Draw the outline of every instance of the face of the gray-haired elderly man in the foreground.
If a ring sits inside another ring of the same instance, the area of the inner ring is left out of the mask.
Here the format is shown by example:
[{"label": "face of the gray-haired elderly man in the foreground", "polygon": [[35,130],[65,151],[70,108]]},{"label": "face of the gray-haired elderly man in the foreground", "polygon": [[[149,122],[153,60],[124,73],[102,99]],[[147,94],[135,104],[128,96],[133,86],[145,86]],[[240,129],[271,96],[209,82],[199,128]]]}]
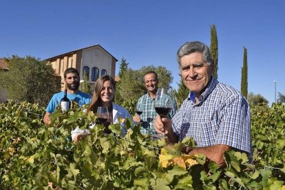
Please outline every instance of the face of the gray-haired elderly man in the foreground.
[{"label": "face of the gray-haired elderly man in the foreground", "polygon": [[212,68],[212,65],[207,65],[200,52],[182,56],[180,61],[182,81],[191,92],[196,94],[196,97],[200,96],[204,87],[209,83]]}]

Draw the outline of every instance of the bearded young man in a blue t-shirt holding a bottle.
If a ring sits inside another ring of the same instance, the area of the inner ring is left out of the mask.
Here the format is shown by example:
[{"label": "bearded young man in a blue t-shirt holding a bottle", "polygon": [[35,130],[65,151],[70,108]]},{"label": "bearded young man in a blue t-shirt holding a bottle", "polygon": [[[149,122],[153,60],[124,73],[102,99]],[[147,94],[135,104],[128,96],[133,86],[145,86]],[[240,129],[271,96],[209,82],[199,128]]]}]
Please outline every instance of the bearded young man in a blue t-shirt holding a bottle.
[{"label": "bearded young man in a blue t-shirt holding a bottle", "polygon": [[[78,90],[78,87],[80,85],[80,77],[78,70],[70,67],[65,70],[64,74],[64,82],[67,85],[67,98],[70,99],[70,101],[76,101],[79,106],[82,106],[84,104],[88,104],[91,101],[90,95],[86,94],[84,92],[80,92]],[[56,109],[56,106],[61,103],[61,98],[63,98],[64,92],[59,92],[54,94],[52,96],[52,99],[50,100],[50,103],[47,105],[47,108],[45,109],[45,116],[43,118],[43,122],[46,125],[50,125],[50,114],[54,112]]]}]

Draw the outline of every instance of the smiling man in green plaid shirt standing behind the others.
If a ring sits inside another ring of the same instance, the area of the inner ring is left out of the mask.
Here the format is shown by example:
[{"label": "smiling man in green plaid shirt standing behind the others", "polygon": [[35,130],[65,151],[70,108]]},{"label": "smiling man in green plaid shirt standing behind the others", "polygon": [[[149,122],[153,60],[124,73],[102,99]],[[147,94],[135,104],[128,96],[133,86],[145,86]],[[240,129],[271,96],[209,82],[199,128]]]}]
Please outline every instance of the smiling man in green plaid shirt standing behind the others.
[{"label": "smiling man in green plaid shirt standing behind the others", "polygon": [[[158,75],[154,71],[149,71],[145,73],[144,81],[147,94],[138,98],[137,103],[137,107],[140,107],[142,114],[136,114],[133,119],[142,126],[142,134],[157,134],[154,128],[154,118],[157,116],[156,110],[154,109],[154,98],[158,90]],[[173,104],[173,109],[168,114],[169,118],[172,118],[176,113],[176,101],[173,101]]]}]

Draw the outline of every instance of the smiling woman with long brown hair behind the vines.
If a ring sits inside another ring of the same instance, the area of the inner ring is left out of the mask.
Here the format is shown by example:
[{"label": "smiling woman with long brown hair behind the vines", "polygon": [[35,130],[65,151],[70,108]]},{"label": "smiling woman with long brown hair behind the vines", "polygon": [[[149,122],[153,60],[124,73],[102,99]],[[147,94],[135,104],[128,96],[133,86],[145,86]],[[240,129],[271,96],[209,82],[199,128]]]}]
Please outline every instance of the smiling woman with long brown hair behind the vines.
[{"label": "smiling woman with long brown hair behind the vines", "polygon": [[[95,83],[94,86],[94,93],[92,96],[92,101],[87,109],[87,113],[92,111],[94,113],[97,112],[98,107],[107,107],[110,113],[110,118],[113,118],[112,123],[118,123],[118,118],[131,118],[131,115],[124,107],[113,103],[114,101],[114,94],[115,94],[115,81],[112,76],[104,75]],[[110,123],[110,120],[106,123]],[[105,123],[105,124],[106,124]],[[94,125],[91,126],[92,128]],[[105,125],[105,127],[107,127]],[[105,132],[108,132],[108,129],[105,129]],[[122,126],[122,133],[126,134],[126,129]],[[77,142],[81,138],[84,138],[89,134],[87,129],[82,130],[79,127],[76,127],[72,132],[72,140]]]}]

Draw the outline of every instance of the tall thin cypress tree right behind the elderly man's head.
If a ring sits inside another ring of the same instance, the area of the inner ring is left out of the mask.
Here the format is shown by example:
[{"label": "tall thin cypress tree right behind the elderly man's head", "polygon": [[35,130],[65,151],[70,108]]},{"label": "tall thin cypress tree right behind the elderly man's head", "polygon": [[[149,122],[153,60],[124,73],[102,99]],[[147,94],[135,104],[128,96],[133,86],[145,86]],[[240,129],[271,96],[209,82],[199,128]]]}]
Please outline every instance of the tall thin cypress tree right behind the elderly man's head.
[{"label": "tall thin cypress tree right behind the elderly man's head", "polygon": [[215,65],[213,76],[215,78],[218,78],[218,36],[217,36],[217,30],[215,29],[215,25],[211,25],[210,52]]}]

